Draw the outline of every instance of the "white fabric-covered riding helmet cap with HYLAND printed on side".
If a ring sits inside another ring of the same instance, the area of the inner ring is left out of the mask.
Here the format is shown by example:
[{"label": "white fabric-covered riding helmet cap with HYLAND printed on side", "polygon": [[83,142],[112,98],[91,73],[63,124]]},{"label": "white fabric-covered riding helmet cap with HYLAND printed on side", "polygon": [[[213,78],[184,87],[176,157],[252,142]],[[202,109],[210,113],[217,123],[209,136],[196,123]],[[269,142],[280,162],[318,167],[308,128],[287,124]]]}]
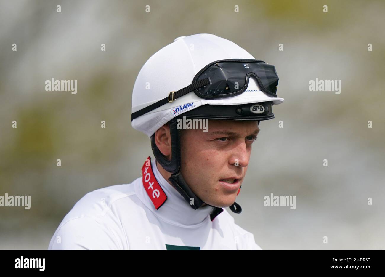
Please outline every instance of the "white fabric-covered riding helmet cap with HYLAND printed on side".
[{"label": "white fabric-covered riding helmet cap with HYLAND printed on side", "polygon": [[[139,111],[192,83],[194,76],[215,60],[254,59],[246,50],[230,40],[212,34],[177,37],[174,42],[152,55],[139,72],[132,92],[132,112]],[[256,78],[251,76],[245,92],[233,97],[203,99],[189,92],[173,102],[147,112],[132,120],[132,127],[151,136],[172,118],[206,104],[234,105],[272,101],[277,105],[285,99],[271,97],[261,91]],[[193,105],[174,112],[176,107]]]}]

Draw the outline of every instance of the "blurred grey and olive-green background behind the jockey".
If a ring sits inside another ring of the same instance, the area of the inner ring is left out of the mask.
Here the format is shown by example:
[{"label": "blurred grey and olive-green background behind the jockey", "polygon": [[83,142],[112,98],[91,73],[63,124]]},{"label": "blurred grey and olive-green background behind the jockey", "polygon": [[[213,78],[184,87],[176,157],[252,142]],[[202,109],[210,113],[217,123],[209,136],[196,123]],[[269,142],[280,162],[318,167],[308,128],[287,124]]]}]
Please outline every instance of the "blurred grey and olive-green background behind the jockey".
[{"label": "blurred grey and olive-green background behind the jockey", "polygon": [[[131,127],[136,76],[199,33],[275,65],[285,99],[259,125],[235,222],[264,250],[384,249],[384,14],[381,0],[0,1],[0,195],[31,196],[30,210],[0,207],[0,249],[47,249],[82,196],[140,176],[152,152]],[[77,94],[45,91],[51,78]],[[315,78],[341,93],[309,91]],[[265,207],[270,193],[296,209]]]}]

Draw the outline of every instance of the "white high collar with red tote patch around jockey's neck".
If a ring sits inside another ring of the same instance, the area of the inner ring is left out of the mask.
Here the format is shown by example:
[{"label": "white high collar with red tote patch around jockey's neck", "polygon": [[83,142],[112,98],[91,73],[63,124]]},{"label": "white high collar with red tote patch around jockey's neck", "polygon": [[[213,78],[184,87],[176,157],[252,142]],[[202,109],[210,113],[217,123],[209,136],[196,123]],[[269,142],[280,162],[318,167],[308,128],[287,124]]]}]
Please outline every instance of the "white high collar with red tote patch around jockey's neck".
[{"label": "white high collar with red tote patch around jockey's neck", "polygon": [[139,199],[157,217],[173,225],[196,227],[210,220],[213,206],[192,209],[182,195],[158,171],[148,157],[142,167],[142,181],[135,187]]}]

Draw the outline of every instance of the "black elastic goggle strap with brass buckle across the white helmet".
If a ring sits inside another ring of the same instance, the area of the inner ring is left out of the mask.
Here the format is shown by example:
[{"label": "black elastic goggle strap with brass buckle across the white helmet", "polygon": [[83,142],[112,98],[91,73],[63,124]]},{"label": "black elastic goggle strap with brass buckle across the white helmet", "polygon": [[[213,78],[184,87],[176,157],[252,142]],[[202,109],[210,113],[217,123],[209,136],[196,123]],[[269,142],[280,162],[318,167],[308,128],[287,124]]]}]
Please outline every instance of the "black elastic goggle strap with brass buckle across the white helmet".
[{"label": "black elastic goggle strap with brass buckle across the white helmet", "polygon": [[[205,78],[205,79],[202,79],[201,81],[198,81],[198,82],[191,84],[187,87],[179,89],[179,91],[170,92],[169,96],[167,96],[166,98],[163,98],[162,100],[159,100],[159,101],[151,104],[150,106],[144,107],[143,109],[140,109],[139,111],[133,112],[131,114],[131,121],[138,118],[139,116],[142,116],[143,114],[146,114],[147,112],[150,112],[156,108],[159,108],[160,106],[163,106],[164,104],[167,104],[168,102],[172,102],[172,101],[176,100],[177,98],[184,96],[185,94],[187,94],[191,91],[194,91],[194,89],[198,89],[199,87],[202,87],[202,86],[207,85],[209,83],[210,83],[209,78]],[[170,101],[170,96],[172,96],[171,101]]]}]

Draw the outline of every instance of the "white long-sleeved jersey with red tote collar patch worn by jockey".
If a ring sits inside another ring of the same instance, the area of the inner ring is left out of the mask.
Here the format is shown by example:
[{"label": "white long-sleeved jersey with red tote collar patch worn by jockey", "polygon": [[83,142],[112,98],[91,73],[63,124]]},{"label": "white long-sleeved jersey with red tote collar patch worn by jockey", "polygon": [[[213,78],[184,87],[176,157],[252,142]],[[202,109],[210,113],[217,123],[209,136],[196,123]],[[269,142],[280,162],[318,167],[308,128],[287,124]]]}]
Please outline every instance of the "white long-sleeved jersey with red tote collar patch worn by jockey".
[{"label": "white long-sleeved jersey with red tote collar patch worn by jockey", "polygon": [[[155,160],[148,165],[131,184],[101,188],[81,198],[60,223],[48,249],[262,250],[226,209],[211,220],[214,207],[194,210],[162,177]],[[155,186],[148,173],[154,175]],[[162,195],[164,200],[154,201]]]}]

